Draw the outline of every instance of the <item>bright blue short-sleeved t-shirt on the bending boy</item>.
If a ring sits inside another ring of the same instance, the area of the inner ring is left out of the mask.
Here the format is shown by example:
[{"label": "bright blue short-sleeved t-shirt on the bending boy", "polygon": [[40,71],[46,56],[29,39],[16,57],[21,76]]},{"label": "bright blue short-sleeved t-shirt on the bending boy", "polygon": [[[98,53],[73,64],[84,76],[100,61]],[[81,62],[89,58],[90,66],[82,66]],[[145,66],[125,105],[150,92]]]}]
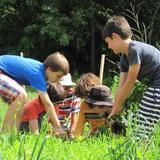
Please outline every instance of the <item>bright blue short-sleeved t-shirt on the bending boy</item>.
[{"label": "bright blue short-sleeved t-shirt on the bending boy", "polygon": [[43,63],[14,55],[0,56],[0,69],[19,84],[47,92]]}]

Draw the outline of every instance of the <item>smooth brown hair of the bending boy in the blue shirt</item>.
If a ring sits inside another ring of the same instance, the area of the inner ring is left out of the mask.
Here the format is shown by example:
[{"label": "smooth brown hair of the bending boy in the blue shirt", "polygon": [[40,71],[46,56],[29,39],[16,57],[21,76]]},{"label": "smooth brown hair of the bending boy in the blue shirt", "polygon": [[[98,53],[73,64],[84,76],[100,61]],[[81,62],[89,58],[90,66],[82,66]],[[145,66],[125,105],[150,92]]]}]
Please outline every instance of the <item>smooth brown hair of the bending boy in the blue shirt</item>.
[{"label": "smooth brown hair of the bending boy in the blue shirt", "polygon": [[66,75],[69,72],[69,63],[66,57],[60,52],[50,54],[44,61],[45,69],[50,67],[53,71],[61,71]]}]

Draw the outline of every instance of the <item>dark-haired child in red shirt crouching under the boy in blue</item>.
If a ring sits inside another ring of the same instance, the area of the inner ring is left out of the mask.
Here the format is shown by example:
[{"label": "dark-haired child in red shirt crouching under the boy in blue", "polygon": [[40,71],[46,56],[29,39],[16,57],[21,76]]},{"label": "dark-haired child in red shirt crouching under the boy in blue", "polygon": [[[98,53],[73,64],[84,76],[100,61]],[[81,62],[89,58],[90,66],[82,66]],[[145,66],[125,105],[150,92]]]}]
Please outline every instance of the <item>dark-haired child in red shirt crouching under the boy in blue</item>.
[{"label": "dark-haired child in red shirt crouching under the boy in blue", "polygon": [[[47,93],[51,102],[54,104],[55,111],[58,114],[57,102],[64,100],[66,93],[63,86],[60,83],[47,83]],[[46,114],[44,105],[38,96],[31,102],[24,106],[24,113],[22,116],[22,122],[20,131],[29,131],[38,134],[41,129],[41,121]],[[56,134],[56,133],[55,133]]]}]

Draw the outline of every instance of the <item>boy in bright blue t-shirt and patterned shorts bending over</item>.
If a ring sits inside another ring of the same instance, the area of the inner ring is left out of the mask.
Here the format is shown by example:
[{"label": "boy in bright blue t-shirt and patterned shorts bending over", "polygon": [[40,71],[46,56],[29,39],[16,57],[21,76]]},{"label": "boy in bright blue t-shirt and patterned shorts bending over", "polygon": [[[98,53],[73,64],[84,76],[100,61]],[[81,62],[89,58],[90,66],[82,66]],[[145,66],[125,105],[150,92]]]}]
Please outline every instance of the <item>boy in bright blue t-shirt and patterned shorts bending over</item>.
[{"label": "boy in bright blue t-shirt and patterned shorts bending over", "polygon": [[25,84],[38,90],[46,112],[52,117],[56,132],[60,135],[66,134],[46,90],[46,81],[56,82],[69,72],[68,61],[62,54],[51,54],[44,63],[30,58],[3,55],[0,56],[0,71],[0,95],[10,100],[2,132],[12,130],[15,122],[19,129],[23,106],[27,100],[27,93],[21,86]]}]

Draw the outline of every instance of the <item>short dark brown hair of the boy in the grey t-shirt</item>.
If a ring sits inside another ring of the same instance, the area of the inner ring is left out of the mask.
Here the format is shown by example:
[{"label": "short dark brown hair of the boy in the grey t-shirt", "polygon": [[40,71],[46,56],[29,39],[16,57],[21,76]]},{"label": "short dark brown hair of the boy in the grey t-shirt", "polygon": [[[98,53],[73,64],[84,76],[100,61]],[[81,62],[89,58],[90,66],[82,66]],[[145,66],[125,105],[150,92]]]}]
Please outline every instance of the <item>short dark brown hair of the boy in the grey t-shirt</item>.
[{"label": "short dark brown hair of the boy in the grey t-shirt", "polygon": [[122,39],[132,37],[131,27],[123,16],[113,16],[105,24],[102,30],[102,38],[112,38],[112,33],[117,33]]}]

